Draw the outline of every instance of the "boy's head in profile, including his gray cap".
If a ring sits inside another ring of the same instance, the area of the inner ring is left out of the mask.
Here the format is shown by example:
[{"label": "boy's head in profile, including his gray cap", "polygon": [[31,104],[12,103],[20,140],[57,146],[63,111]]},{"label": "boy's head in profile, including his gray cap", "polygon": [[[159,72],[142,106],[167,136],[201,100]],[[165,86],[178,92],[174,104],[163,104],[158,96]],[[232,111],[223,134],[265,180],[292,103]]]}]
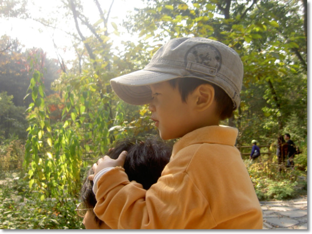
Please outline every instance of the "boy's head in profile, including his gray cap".
[{"label": "boy's head in profile, including his gray cap", "polygon": [[114,78],[111,85],[130,104],[150,103],[161,138],[171,139],[231,117],[240,103],[242,79],[243,64],[230,47],[211,39],[177,38],[163,45],[144,69]]}]

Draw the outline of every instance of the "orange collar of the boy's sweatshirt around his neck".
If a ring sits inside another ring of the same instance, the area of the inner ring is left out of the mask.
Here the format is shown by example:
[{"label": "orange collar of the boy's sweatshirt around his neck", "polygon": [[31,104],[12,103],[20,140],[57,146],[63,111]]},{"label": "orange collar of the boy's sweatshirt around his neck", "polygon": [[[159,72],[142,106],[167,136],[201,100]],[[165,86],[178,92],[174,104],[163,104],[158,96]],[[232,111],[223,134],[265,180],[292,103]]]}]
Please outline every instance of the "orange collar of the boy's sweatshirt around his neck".
[{"label": "orange collar of the boy's sweatshirt around his neck", "polygon": [[238,129],[229,126],[207,126],[196,129],[181,137],[173,147],[173,155],[194,144],[213,143],[234,146]]}]

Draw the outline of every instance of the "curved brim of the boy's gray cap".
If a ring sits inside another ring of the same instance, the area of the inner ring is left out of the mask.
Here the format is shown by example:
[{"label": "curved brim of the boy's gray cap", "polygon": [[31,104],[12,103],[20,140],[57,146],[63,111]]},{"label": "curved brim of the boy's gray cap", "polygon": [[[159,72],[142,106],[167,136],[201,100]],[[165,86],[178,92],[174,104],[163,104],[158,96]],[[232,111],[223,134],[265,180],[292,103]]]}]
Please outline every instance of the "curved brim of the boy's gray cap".
[{"label": "curved brim of the boy's gray cap", "polygon": [[144,105],[152,100],[150,84],[178,78],[174,74],[139,70],[110,80],[117,96],[133,105]]}]

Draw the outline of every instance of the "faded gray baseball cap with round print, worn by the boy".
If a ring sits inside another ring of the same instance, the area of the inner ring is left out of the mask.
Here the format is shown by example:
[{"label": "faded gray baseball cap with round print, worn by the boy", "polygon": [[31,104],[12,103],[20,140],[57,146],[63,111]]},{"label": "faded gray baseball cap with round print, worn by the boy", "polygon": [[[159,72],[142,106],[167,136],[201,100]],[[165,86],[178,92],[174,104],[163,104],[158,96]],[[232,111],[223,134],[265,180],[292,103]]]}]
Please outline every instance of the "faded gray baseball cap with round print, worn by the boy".
[{"label": "faded gray baseball cap with round print, worn by the boy", "polygon": [[234,107],[239,106],[243,81],[243,63],[225,44],[206,38],[176,38],[160,47],[142,70],[110,80],[117,96],[134,105],[152,100],[150,84],[191,77],[221,87]]}]

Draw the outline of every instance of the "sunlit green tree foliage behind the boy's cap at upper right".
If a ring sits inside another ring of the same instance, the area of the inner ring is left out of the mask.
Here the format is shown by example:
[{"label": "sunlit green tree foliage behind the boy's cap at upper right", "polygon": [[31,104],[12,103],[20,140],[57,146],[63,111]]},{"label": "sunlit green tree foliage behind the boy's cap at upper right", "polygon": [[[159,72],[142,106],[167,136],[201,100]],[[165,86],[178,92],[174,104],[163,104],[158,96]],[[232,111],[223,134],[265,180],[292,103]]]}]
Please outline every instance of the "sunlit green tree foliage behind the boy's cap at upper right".
[{"label": "sunlit green tree foliage behind the boy's cap at upper right", "polygon": [[294,0],[144,2],[146,7],[136,9],[124,26],[129,31],[140,32],[145,43],[157,43],[155,49],[169,38],[195,36],[219,40],[241,56],[242,102],[234,118],[224,123],[239,129],[238,145],[246,144],[254,136],[267,144],[288,129],[295,129],[296,141],[305,139],[307,9],[304,4]]}]

